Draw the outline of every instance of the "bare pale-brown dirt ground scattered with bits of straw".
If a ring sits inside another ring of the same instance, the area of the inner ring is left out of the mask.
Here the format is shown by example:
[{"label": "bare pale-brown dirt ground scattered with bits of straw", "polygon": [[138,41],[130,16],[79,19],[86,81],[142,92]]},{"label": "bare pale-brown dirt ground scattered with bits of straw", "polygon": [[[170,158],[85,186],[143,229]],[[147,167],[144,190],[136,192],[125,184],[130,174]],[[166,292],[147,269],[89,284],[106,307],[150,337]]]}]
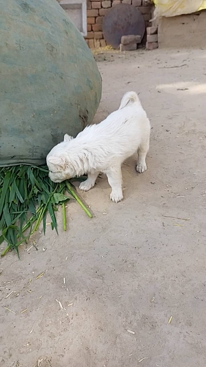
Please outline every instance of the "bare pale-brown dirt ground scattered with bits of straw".
[{"label": "bare pale-brown dirt ground scattered with bits of straw", "polygon": [[21,261],[0,259],[0,366],[203,367],[205,51],[96,59],[103,94],[95,121],[124,92],[139,92],[152,126],[148,170],[137,174],[130,158],[121,203],[99,178],[81,193],[93,219],[70,201],[67,232],[60,212],[59,236],[48,226],[34,236],[37,250],[31,241]]}]

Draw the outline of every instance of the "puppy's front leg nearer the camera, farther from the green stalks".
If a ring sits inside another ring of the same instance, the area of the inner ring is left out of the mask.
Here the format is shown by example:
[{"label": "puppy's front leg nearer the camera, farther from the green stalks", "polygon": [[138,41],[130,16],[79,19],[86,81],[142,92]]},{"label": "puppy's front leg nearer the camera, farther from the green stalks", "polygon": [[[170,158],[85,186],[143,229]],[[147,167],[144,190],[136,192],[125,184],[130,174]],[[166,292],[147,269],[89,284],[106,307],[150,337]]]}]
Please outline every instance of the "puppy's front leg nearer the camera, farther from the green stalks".
[{"label": "puppy's front leg nearer the camera, farther from the green stalks", "polygon": [[118,201],[123,199],[121,166],[119,165],[108,168],[106,175],[108,183],[111,186],[110,199],[114,201],[114,203],[118,203]]}]

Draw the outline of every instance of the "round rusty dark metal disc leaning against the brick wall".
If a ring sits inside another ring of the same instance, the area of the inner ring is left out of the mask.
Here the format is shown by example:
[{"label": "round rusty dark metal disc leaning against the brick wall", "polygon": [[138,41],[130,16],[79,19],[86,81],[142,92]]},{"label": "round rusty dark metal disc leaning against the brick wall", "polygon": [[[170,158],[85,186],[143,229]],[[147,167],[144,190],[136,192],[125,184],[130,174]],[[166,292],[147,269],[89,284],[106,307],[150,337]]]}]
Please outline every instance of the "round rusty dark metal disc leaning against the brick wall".
[{"label": "round rusty dark metal disc leaning against the brick wall", "polygon": [[122,36],[129,34],[144,36],[145,22],[141,12],[132,5],[119,4],[105,15],[102,24],[104,39],[118,48]]}]

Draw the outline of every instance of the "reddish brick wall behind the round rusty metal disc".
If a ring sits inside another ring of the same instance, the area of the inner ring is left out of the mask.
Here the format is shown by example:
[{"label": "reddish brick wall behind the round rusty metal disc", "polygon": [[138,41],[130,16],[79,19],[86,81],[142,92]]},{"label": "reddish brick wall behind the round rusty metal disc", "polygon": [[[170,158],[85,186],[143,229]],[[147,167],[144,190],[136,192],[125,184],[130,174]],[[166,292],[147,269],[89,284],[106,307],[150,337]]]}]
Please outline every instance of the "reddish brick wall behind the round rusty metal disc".
[{"label": "reddish brick wall behind the round rusty metal disc", "polygon": [[87,1],[87,37],[86,42],[90,48],[104,47],[106,41],[102,33],[102,21],[104,15],[111,7],[126,3],[137,7],[145,20],[146,27],[150,25],[151,1],[147,0],[88,0]]}]

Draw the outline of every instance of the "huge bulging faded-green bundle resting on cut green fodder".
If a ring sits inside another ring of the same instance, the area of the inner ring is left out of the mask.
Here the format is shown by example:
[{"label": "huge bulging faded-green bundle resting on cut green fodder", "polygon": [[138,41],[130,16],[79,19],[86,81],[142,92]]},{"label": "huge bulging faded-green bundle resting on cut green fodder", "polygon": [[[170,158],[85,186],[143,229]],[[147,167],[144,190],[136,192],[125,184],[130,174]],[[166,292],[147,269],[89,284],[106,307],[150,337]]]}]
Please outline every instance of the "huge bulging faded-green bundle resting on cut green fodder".
[{"label": "huge bulging faded-green bundle resting on cut green fodder", "polygon": [[102,80],[55,0],[0,0],[0,166],[44,164],[99,106]]}]

